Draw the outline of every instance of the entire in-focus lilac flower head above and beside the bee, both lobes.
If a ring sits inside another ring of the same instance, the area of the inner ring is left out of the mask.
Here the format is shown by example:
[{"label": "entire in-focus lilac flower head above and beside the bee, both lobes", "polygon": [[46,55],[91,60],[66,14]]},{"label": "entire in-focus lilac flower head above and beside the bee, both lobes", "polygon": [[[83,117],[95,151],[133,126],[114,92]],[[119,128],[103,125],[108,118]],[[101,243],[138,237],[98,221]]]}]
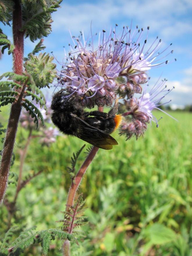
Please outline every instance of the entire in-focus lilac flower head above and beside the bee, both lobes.
[{"label": "entire in-focus lilac flower head above and beside the bee, both lobes", "polygon": [[123,104],[126,114],[123,114],[125,119],[120,133],[125,133],[128,138],[133,134],[136,137],[143,134],[147,128],[146,123],[154,119],[152,108],[157,107],[161,100],[153,101],[153,97],[151,98],[160,85],[155,86],[149,94],[144,93],[139,99],[134,97],[135,94],[142,93],[142,86],[148,81],[146,72],[154,66],[166,65],[168,60],[162,59],[173,53],[166,53],[169,46],[160,50],[161,39],[158,37],[145,49],[148,31],[149,27],[141,43],[144,31],[138,27],[133,32],[129,27],[123,27],[120,36],[116,33],[116,27],[108,35],[103,30],[98,34],[96,49],[94,37],[97,34],[93,36],[91,32],[90,42],[85,40],[83,33],[79,37],[72,36],[74,46],[70,45],[71,52],[69,56],[65,54],[66,63],[58,72],[58,85],[66,88],[67,95],[80,96],[77,100],[85,107],[93,108],[95,104],[111,106],[117,96],[126,97]]}]

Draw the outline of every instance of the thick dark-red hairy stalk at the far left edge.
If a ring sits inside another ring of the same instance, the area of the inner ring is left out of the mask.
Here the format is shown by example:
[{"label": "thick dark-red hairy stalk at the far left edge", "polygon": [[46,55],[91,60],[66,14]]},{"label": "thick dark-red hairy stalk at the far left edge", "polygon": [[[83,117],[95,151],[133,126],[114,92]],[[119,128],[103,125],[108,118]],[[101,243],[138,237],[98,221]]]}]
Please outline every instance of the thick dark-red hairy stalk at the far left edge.
[{"label": "thick dark-red hairy stalk at the far left edge", "polygon": [[[20,32],[22,26],[22,13],[20,1],[15,0],[13,10],[13,70],[16,74],[23,73],[23,55],[24,55],[24,32]],[[11,106],[10,117],[7,126],[7,133],[3,147],[0,167],[0,203],[3,200],[8,183],[11,157],[21,114],[21,101],[24,95],[25,85],[18,89],[19,97]]]}]

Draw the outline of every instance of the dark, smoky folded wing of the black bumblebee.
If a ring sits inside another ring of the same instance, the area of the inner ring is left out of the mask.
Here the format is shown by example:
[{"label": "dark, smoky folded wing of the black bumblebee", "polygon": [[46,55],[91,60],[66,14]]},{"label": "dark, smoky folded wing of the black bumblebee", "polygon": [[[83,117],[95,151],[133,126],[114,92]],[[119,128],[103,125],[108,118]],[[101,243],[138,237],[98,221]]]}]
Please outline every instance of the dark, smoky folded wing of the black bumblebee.
[{"label": "dark, smoky folded wing of the black bumblebee", "polygon": [[77,115],[72,115],[74,118],[78,119],[78,123],[81,122],[82,125],[82,129],[78,131],[78,138],[103,149],[112,149],[112,145],[118,145],[117,141],[108,133],[89,125]]}]

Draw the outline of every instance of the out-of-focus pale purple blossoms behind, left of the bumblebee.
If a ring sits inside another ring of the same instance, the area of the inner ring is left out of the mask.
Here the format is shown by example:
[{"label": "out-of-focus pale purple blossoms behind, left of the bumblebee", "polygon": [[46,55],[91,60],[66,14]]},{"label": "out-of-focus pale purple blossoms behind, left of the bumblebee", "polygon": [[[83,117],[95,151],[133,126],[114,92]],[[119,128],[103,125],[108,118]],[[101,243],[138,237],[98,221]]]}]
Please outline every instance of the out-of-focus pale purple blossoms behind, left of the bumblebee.
[{"label": "out-of-focus pale purple blossoms behind, left of the bumblebee", "polygon": [[[55,142],[55,137],[59,135],[59,131],[56,128],[46,126],[46,123],[51,123],[50,108],[48,108],[48,114],[46,114],[46,111],[44,109],[41,109],[39,104],[36,104],[35,102],[33,104],[39,108],[45,121],[45,126],[41,127],[38,130],[38,134],[33,135],[33,137],[39,137],[39,142],[42,146],[49,146],[51,143]],[[48,102],[46,105],[51,105],[51,103]],[[34,119],[25,109],[22,109],[21,111],[20,123],[21,127],[25,129],[28,129],[30,131],[36,130],[36,124],[34,123]]]}]

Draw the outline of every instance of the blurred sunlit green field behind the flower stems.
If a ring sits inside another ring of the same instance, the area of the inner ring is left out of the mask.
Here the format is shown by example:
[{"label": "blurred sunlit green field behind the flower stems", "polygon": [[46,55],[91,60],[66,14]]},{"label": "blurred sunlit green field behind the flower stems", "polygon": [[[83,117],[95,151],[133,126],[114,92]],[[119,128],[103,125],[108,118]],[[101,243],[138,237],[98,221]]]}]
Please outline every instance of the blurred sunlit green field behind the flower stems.
[{"label": "blurred sunlit green field behind the flower stems", "polygon": [[[128,141],[116,132],[113,136],[119,145],[98,151],[78,190],[86,199],[89,222],[78,229],[80,245],[72,245],[72,256],[192,255],[192,114],[170,114],[178,122],[155,112],[157,118],[163,116],[159,128],[152,123],[143,138]],[[26,137],[27,131],[19,128],[12,172],[18,173],[19,149]],[[24,176],[43,172],[20,191],[12,226],[60,227],[55,221],[63,218],[71,184],[66,170],[72,153],[83,144],[60,136],[50,147],[42,147],[38,138],[33,139]],[[85,156],[81,153],[77,169]],[[11,200],[14,194],[15,185],[10,184],[6,197]],[[8,218],[2,206],[0,234],[6,231]],[[55,240],[49,255],[62,255],[61,245]],[[41,255],[41,247],[31,246],[24,255]]]}]

